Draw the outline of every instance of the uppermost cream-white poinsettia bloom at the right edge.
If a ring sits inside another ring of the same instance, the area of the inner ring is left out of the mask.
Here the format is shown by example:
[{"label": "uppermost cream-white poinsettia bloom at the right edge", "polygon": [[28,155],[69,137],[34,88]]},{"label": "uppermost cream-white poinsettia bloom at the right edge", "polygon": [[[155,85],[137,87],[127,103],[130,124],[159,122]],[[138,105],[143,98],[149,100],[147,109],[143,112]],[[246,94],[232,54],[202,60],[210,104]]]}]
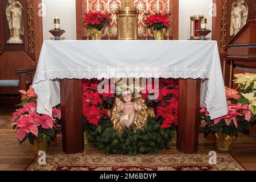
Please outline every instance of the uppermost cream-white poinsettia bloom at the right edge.
[{"label": "uppermost cream-white poinsettia bloom at the right edge", "polygon": [[256,74],[253,73],[245,73],[245,74],[236,74],[234,75],[237,79],[235,80],[236,84],[245,85],[245,89],[247,89],[250,84],[253,82],[253,89],[256,89]]}]

